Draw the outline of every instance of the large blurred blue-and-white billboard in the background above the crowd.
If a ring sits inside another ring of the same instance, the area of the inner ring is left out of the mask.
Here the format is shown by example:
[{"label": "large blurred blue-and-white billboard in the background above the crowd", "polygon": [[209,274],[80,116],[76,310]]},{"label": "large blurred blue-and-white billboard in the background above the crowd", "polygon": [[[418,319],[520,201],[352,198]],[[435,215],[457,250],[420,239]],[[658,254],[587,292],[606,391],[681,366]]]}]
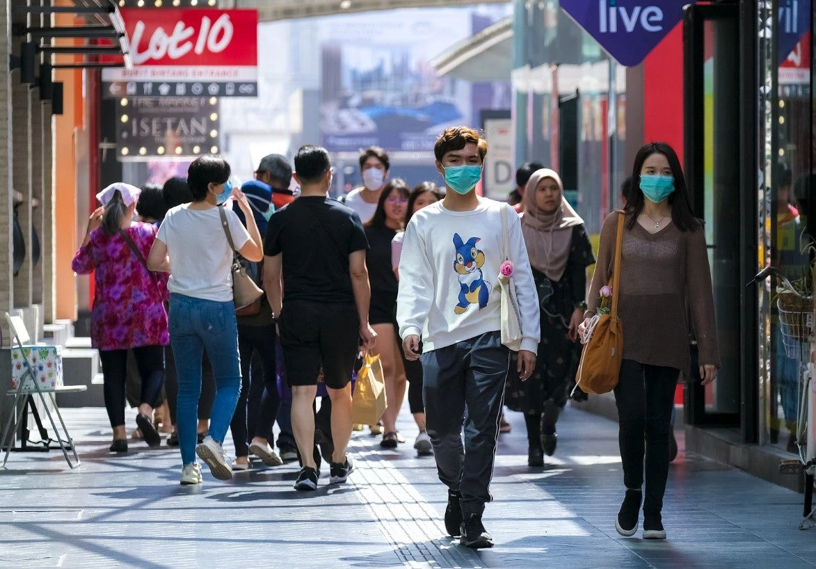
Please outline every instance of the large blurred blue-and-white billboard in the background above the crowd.
[{"label": "large blurred blue-and-white billboard in the background above the crowd", "polygon": [[478,24],[463,8],[322,19],[322,144],[330,152],[428,152],[445,127],[476,125],[471,84],[437,77],[430,61]]}]

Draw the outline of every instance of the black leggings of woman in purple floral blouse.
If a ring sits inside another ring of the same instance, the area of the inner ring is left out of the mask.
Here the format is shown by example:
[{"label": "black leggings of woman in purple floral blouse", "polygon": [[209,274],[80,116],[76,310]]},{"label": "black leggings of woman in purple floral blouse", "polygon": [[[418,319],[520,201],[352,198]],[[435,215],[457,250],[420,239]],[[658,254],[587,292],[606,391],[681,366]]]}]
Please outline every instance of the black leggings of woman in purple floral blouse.
[{"label": "black leggings of woman in purple floral blouse", "polygon": [[[141,403],[156,405],[164,381],[164,346],[151,345],[133,349],[136,366],[142,378]],[[127,350],[100,350],[104,376],[104,406],[112,427],[125,425],[125,381]]]}]

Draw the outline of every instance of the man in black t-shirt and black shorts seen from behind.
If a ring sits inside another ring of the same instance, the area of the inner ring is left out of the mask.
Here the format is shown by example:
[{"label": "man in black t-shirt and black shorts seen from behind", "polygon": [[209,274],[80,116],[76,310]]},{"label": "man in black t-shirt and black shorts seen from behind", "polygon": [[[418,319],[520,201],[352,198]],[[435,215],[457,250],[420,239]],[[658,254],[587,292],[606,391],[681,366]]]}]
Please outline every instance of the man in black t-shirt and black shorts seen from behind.
[{"label": "man in black t-shirt and black shorts seen from behind", "polygon": [[[326,198],[332,168],[326,149],[306,145],[295,155],[300,197],[269,220],[264,242],[264,288],[277,317],[286,376],[292,388],[292,429],[303,468],[295,489],[315,490],[313,457],[317,376],[331,400],[330,482],[345,482],[352,433],[351,380],[360,345],[375,345],[368,323],[368,242],[360,216]],[[282,298],[286,291],[286,298]]]}]

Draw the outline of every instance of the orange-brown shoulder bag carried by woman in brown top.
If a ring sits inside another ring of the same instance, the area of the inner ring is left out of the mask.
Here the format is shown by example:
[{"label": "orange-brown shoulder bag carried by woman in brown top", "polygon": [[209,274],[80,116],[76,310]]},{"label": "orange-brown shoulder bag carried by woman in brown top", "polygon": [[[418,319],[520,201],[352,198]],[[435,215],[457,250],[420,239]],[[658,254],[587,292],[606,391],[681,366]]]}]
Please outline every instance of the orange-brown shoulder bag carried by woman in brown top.
[{"label": "orange-brown shoulder bag carried by woman in brown top", "polygon": [[626,215],[620,211],[614,270],[609,282],[609,287],[612,288],[612,308],[609,314],[596,314],[590,318],[589,326],[583,333],[583,350],[575,389],[580,388],[584,393],[608,393],[618,385],[623,358],[623,326],[618,318],[618,283],[625,222]]}]

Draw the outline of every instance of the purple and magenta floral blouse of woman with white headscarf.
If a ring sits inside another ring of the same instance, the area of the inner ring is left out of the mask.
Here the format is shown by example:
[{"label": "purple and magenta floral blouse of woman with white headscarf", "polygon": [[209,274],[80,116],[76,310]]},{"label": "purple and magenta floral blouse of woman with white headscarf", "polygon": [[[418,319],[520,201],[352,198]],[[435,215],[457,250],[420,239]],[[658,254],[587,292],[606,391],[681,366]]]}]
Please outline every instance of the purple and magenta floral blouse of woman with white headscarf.
[{"label": "purple and magenta floral blouse of woman with white headscarf", "polygon": [[[137,223],[126,229],[147,259],[156,239],[152,224]],[[73,257],[75,273],[95,271],[94,306],[91,310],[91,345],[100,350],[167,345],[166,273],[149,273],[121,235],[99,228]]]}]

